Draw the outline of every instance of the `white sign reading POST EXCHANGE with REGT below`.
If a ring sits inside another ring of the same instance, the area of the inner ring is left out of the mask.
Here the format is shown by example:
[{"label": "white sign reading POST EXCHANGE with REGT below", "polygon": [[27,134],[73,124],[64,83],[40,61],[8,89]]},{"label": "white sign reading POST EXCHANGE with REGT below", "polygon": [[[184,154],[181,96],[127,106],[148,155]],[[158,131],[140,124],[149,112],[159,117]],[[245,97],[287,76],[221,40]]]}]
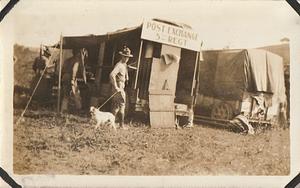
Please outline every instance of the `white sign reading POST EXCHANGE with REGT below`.
[{"label": "white sign reading POST EXCHANGE with REGT below", "polygon": [[144,21],[141,38],[200,51],[201,42],[197,32],[153,20]]}]

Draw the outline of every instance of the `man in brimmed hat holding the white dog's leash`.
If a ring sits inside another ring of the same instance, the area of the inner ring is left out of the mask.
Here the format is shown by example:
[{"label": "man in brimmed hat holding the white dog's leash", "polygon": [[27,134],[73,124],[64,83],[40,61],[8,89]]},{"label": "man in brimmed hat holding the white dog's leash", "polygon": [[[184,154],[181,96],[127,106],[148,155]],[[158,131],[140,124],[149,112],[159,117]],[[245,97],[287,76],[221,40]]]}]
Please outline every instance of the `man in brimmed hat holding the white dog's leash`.
[{"label": "man in brimmed hat holding the white dog's leash", "polygon": [[126,103],[126,93],[124,88],[126,81],[129,80],[127,62],[130,57],[133,57],[133,55],[127,46],[124,46],[123,50],[120,51],[119,54],[122,58],[110,73],[112,93],[118,92],[112,99],[112,112],[116,117],[119,115],[120,128],[127,129],[124,125]]}]

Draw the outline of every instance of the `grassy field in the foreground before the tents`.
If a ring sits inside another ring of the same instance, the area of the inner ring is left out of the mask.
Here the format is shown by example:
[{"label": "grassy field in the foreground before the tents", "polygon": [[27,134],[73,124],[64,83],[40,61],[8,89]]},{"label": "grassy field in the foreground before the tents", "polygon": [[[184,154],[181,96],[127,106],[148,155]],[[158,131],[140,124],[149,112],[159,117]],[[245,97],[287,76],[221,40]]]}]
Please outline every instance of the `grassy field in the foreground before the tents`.
[{"label": "grassy field in the foreground before the tents", "polygon": [[[15,121],[20,111],[15,110]],[[97,132],[87,117],[28,112],[14,125],[17,174],[288,175],[289,129],[241,135],[197,125],[190,129]],[[44,114],[44,115],[43,115]]]}]

